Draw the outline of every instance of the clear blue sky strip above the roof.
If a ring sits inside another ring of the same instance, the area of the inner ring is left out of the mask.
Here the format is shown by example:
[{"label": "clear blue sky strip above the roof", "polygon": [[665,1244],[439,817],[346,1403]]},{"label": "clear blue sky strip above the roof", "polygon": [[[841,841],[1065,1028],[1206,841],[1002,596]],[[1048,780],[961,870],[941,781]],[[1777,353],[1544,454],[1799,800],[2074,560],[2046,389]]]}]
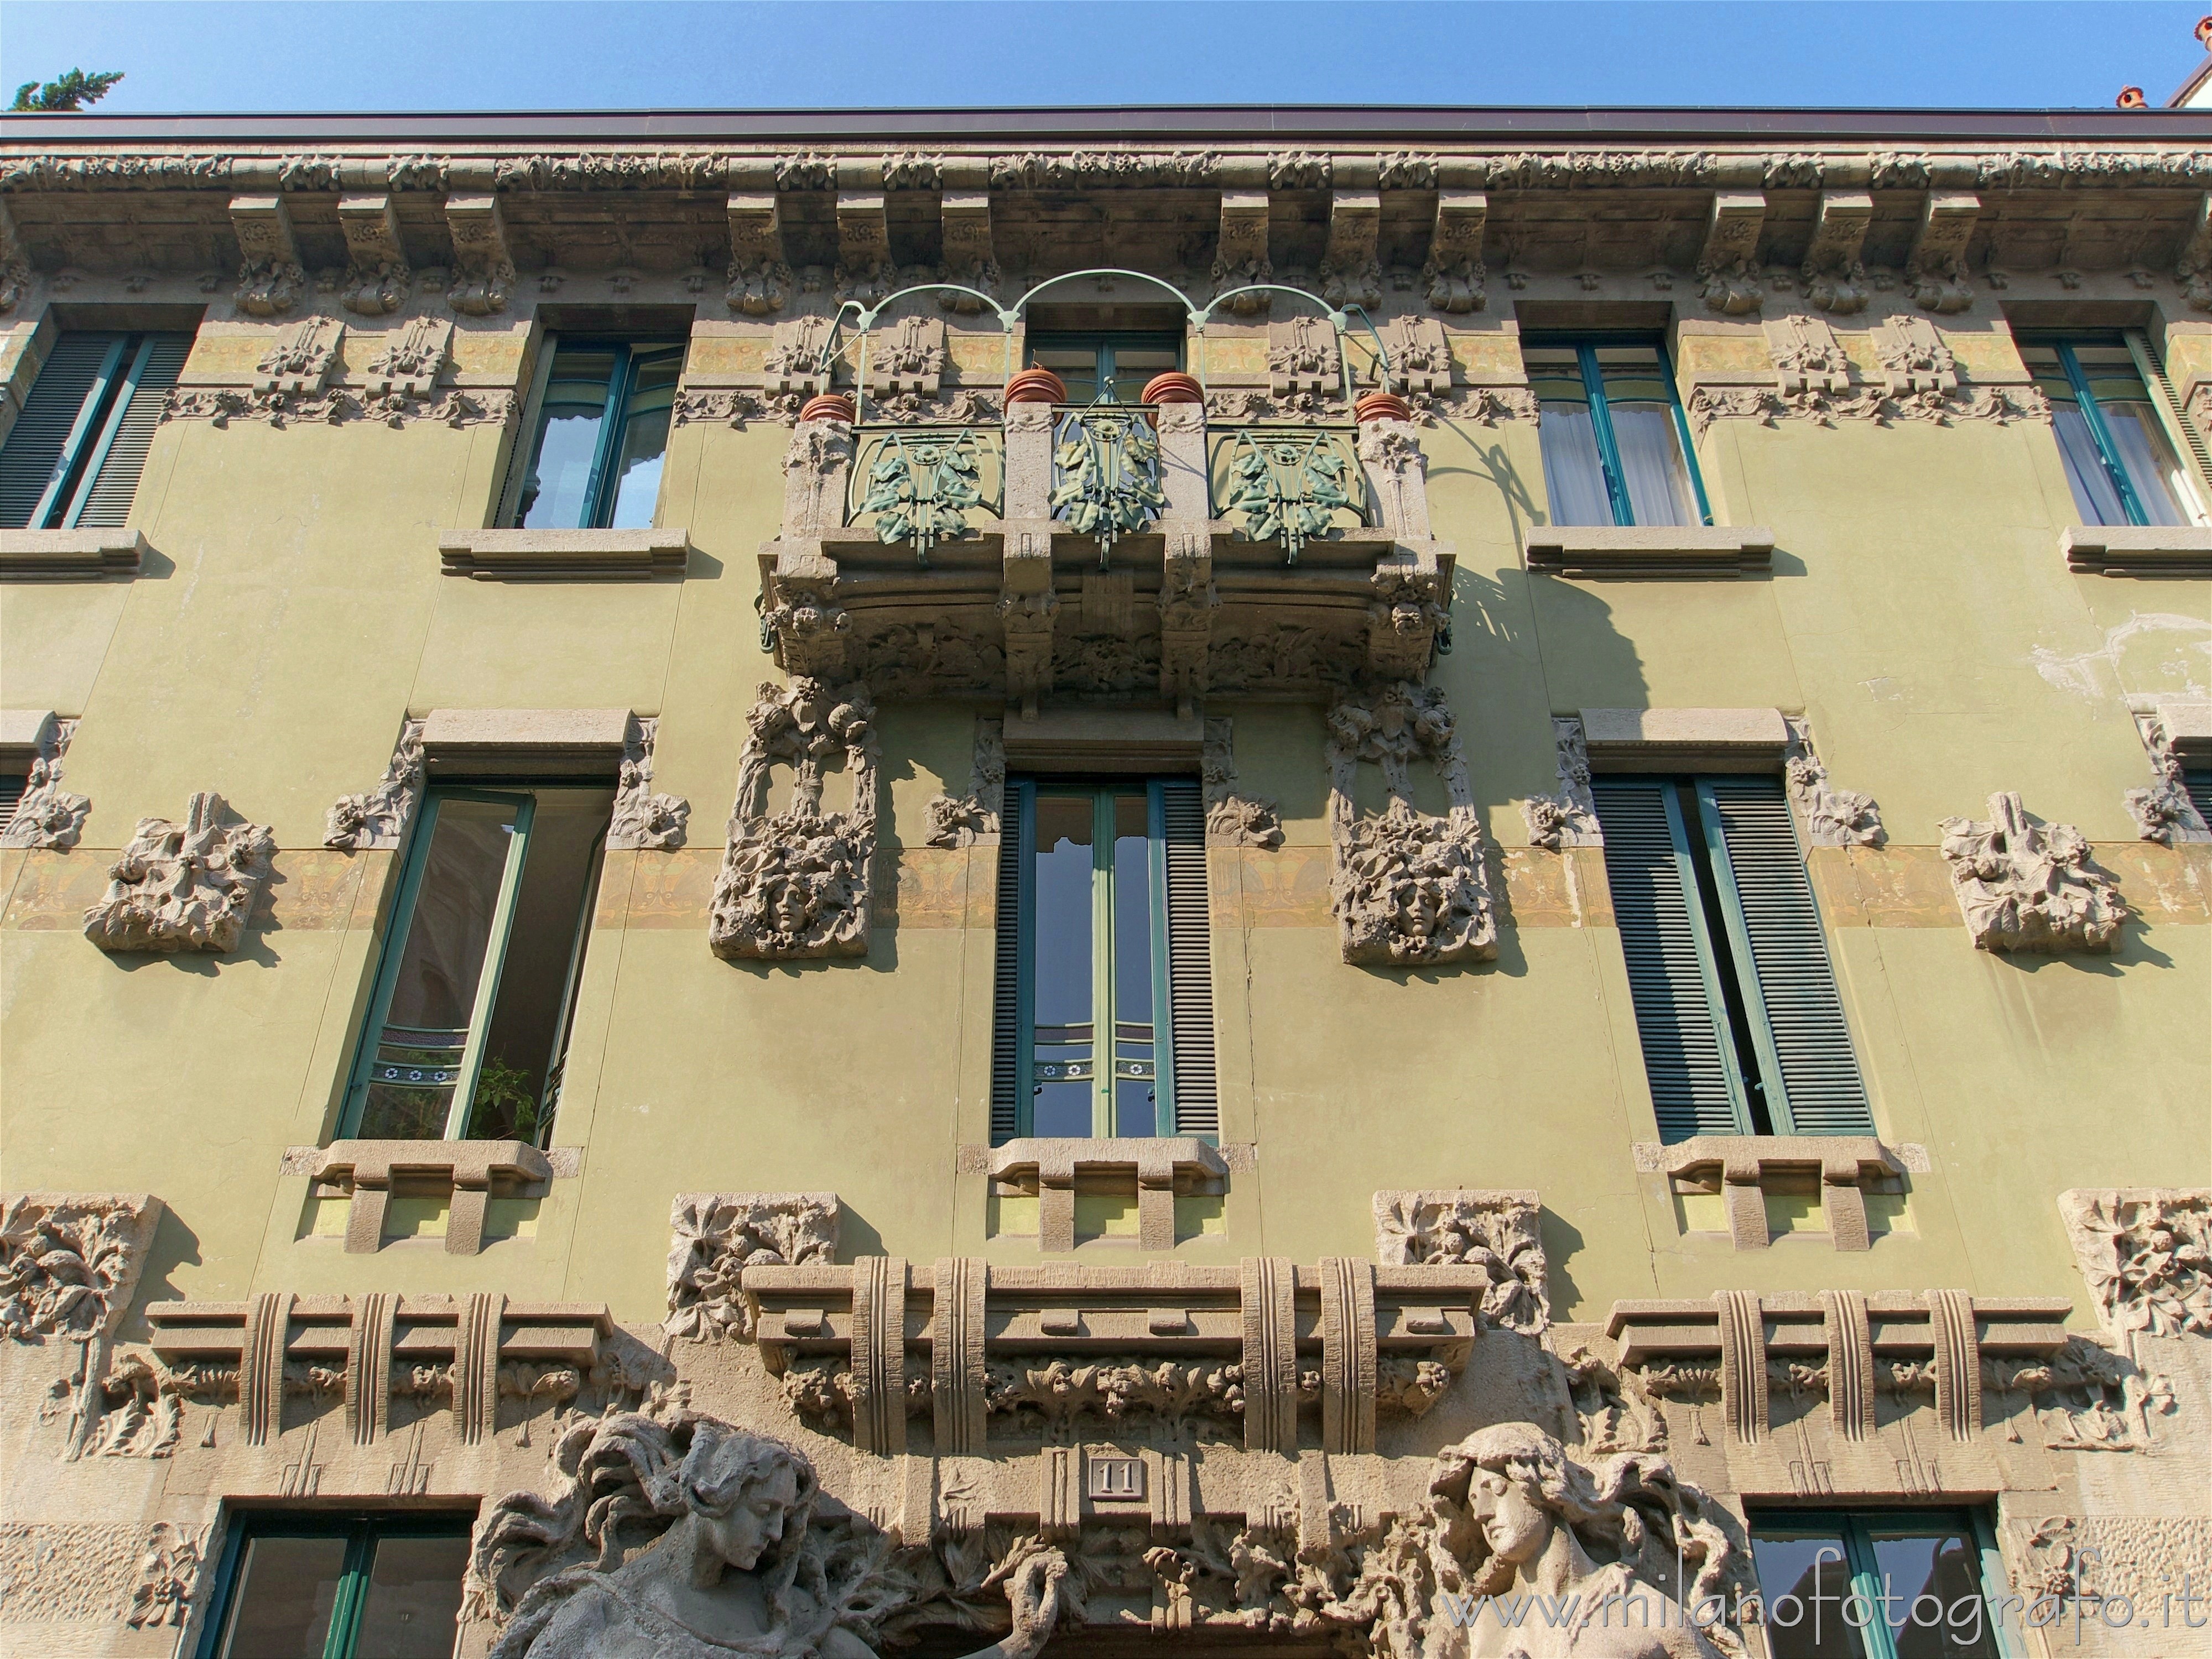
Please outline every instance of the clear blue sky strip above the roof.
[{"label": "clear blue sky strip above the roof", "polygon": [[0,84],[106,111],[1006,104],[2159,104],[2205,0],[666,4],[4,0]]}]

